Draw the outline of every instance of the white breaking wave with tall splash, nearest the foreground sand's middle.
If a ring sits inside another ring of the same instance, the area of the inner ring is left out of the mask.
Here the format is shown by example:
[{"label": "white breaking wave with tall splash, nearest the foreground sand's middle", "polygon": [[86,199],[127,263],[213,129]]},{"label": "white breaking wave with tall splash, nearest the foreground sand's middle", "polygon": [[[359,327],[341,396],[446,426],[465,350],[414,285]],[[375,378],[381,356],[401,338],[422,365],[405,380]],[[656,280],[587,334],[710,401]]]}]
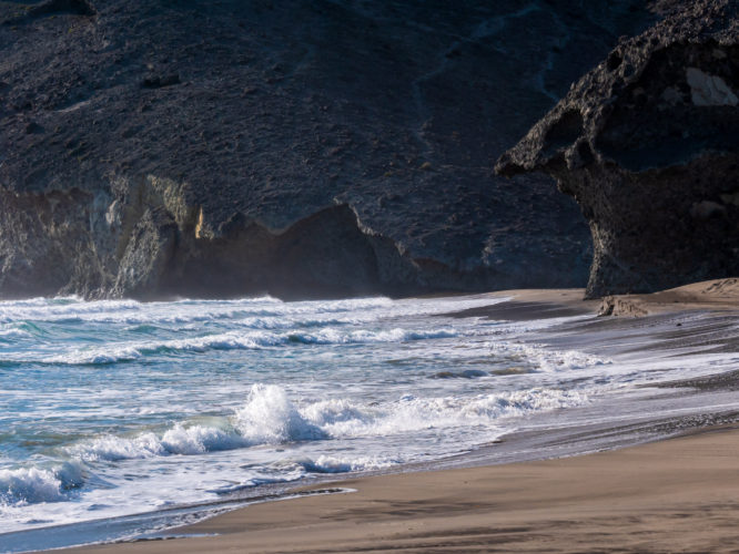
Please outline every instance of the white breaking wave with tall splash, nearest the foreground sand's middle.
[{"label": "white breaking wave with tall splash, nearest the foreground sand's middle", "polygon": [[[392,437],[427,429],[489,425],[500,418],[587,401],[583,392],[534,389],[470,398],[406,394],[396,401],[377,404],[335,399],[298,407],[281,387],[254,384],[242,408],[226,418],[210,418],[210,424],[181,422],[161,433],[108,434],[78,443],[68,451],[85,462],[196,455],[259,444]],[[326,468],[338,468],[344,463],[327,460],[324,460]]]}]

